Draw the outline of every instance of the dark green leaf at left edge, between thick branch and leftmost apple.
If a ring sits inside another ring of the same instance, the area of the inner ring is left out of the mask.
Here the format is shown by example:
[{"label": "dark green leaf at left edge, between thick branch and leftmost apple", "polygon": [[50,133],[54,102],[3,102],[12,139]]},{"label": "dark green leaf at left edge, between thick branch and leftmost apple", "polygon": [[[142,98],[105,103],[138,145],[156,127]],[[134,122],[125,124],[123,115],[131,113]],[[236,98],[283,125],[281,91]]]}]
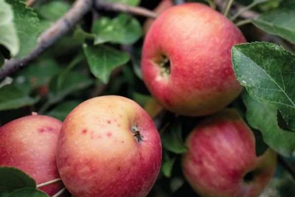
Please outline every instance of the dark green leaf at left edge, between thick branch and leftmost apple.
[{"label": "dark green leaf at left edge, between thick branch and leftmost apple", "polygon": [[0,110],[18,109],[37,103],[39,97],[30,97],[22,92],[15,84],[0,88]]}]

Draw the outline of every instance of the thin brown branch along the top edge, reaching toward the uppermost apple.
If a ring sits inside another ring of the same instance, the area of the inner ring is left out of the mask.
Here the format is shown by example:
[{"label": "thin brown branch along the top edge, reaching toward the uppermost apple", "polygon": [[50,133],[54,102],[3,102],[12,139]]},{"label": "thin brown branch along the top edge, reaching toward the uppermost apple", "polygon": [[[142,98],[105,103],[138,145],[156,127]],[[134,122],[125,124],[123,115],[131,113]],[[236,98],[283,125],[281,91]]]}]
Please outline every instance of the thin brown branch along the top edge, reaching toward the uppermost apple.
[{"label": "thin brown branch along the top edge, reaching toward the uppermost apple", "polygon": [[95,0],[94,5],[97,9],[103,9],[107,11],[115,11],[115,12],[126,12],[130,14],[135,14],[139,16],[144,16],[144,17],[150,17],[150,18],[157,18],[158,14],[150,11],[146,8],[143,7],[135,7],[135,6],[129,6],[129,5],[124,5],[121,3],[109,3],[109,2],[104,2],[101,0]]}]

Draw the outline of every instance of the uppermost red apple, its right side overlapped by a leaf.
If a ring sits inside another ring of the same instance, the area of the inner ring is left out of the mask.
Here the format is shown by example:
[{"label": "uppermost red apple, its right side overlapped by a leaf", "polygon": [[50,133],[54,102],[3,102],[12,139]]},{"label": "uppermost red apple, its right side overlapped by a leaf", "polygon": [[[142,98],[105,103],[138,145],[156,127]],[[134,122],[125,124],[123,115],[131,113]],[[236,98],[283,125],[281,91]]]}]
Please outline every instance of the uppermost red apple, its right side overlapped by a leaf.
[{"label": "uppermost red apple, its right side overlapped by a leaf", "polygon": [[[229,19],[207,5],[173,6],[152,23],[145,38],[144,82],[152,96],[174,113],[211,114],[242,90],[232,69],[231,49],[245,42]],[[169,59],[169,72],[160,65],[163,56]]]}]

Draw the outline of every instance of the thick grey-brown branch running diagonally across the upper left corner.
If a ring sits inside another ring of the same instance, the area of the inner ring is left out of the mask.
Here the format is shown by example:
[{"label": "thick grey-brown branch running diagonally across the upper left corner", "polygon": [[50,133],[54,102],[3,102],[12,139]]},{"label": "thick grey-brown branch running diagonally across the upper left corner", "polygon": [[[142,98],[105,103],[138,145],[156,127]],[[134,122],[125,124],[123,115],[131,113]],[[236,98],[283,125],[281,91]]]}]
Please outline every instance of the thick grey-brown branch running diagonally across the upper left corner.
[{"label": "thick grey-brown branch running diagonally across the upper left corner", "polygon": [[92,7],[92,0],[76,0],[73,6],[61,19],[51,25],[38,38],[35,49],[21,60],[8,60],[0,69],[0,80],[4,77],[20,70],[28,63],[37,58],[46,48],[54,44],[59,38],[67,33],[73,25],[78,22],[84,14]]}]

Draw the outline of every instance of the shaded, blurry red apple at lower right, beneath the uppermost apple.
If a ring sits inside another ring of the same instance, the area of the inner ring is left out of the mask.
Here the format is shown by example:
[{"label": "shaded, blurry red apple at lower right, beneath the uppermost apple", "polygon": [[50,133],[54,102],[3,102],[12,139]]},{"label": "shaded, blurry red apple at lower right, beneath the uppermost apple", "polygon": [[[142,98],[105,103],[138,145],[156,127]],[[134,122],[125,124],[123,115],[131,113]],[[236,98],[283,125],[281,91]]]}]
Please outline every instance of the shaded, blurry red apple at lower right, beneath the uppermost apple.
[{"label": "shaded, blurry red apple at lower right, beneath the uppermost apple", "polygon": [[256,156],[253,132],[234,109],[202,121],[186,146],[183,174],[202,197],[256,197],[274,175],[276,153]]}]

